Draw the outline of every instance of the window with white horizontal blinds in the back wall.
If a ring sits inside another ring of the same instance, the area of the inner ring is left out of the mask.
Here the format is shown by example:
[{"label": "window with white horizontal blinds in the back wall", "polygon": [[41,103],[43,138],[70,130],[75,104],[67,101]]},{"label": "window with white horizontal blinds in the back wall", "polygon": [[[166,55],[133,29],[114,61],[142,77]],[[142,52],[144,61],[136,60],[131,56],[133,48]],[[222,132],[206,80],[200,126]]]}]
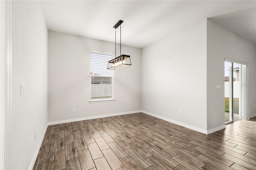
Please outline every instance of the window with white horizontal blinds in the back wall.
[{"label": "window with white horizontal blinds in the back wall", "polygon": [[114,70],[107,69],[113,54],[91,51],[91,100],[114,101]]}]

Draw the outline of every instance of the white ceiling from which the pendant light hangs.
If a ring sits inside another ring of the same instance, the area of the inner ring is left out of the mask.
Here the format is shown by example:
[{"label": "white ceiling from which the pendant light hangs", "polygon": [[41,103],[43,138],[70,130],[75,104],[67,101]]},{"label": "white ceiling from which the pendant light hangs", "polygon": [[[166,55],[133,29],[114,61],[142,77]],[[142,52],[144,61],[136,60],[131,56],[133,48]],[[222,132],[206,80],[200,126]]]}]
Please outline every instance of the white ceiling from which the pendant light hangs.
[{"label": "white ceiling from which the pendant light hangs", "polygon": [[[205,18],[256,43],[256,1],[46,1],[49,30],[115,41],[123,20],[122,44],[145,47]],[[120,42],[120,28],[117,43]]]}]

